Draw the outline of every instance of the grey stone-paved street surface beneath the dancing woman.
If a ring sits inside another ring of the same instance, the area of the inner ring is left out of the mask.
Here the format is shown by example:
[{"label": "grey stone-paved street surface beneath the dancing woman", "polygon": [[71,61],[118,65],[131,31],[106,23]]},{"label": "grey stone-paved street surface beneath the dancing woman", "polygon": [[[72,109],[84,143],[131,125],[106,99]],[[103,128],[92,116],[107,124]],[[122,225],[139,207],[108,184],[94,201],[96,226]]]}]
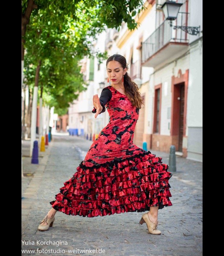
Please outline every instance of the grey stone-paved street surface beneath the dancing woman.
[{"label": "grey stone-paved street surface beneath the dancing woman", "polygon": [[[44,232],[37,230],[51,209],[49,202],[76,172],[92,144],[63,133],[52,137],[45,152],[39,152],[39,164],[31,164],[31,158],[26,157],[30,141],[22,141],[26,176],[21,182],[21,255],[202,255],[202,163],[180,156],[176,156],[177,172],[169,180],[173,205],[159,210],[160,236],[149,234],[145,223],[139,224],[140,212],[96,218],[58,212],[53,227]],[[148,150],[162,157],[164,164],[169,163],[169,154]]]}]

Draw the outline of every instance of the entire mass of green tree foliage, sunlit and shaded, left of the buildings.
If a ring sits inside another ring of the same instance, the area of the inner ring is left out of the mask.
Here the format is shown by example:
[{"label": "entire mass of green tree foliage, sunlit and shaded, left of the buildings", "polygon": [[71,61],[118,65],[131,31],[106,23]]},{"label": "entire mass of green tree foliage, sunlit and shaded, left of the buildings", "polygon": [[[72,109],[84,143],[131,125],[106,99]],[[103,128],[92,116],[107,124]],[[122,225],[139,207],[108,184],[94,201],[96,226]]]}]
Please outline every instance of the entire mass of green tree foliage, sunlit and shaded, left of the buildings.
[{"label": "entire mass of green tree foliage, sunlit and shaded, left of the buildings", "polygon": [[[44,87],[44,101],[66,112],[69,102],[86,89],[79,60],[94,55],[92,40],[106,26],[119,28],[122,21],[129,29],[136,28],[133,17],[142,6],[142,0],[22,1],[26,83],[34,85],[36,67],[41,63],[39,87]],[[29,22],[28,8],[33,8]],[[100,62],[105,58],[105,53],[95,54]]]}]

